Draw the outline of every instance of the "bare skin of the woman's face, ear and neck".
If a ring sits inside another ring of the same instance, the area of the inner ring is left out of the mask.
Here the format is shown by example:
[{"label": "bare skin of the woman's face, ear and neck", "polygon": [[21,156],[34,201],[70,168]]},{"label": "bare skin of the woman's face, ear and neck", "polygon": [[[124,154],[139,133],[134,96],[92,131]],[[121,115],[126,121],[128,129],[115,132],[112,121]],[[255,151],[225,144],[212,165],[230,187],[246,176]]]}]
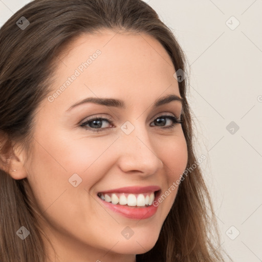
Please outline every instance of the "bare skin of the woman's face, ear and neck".
[{"label": "bare skin of the woman's face, ear and neck", "polygon": [[[176,69],[155,38],[111,30],[82,35],[57,59],[50,95],[97,49],[101,55],[88,69],[53,102],[45,99],[39,105],[30,161],[25,162],[23,151],[12,160],[17,171],[11,176],[28,179],[42,213],[41,228],[57,252],[55,259],[46,242],[50,261],[136,261],[136,254],[156,244],[178,188],[154,216],[140,221],[103,207],[97,192],[148,185],[165,192],[187,164],[181,124],[164,129],[153,123],[165,114],[179,117],[182,110],[179,101],[152,108],[160,97],[180,96]],[[122,99],[126,108],[85,103],[67,111],[88,97]],[[113,127],[106,121],[97,133],[80,127],[91,116],[111,118]],[[120,128],[126,121],[135,127],[129,135]],[[82,179],[77,187],[69,183],[74,173]],[[129,239],[121,234],[126,226],[134,231]]]}]

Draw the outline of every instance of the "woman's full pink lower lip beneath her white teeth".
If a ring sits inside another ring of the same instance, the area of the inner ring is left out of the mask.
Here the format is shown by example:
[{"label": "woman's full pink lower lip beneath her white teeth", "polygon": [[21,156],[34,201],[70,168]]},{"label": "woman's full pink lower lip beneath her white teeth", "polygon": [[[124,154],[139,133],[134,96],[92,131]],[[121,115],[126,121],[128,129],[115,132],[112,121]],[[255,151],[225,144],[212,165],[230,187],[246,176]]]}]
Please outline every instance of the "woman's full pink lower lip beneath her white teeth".
[{"label": "woman's full pink lower lip beneath her white teeth", "polygon": [[[154,201],[157,199],[159,192],[157,192],[157,195],[154,199]],[[98,196],[97,196],[98,197]],[[99,197],[98,197],[99,198]],[[100,198],[99,198],[100,199]],[[107,208],[125,216],[128,217],[128,219],[148,219],[149,217],[153,216],[157,210],[158,206],[148,206],[148,207],[129,207],[125,205],[114,205],[110,202],[106,202],[102,199],[100,201],[105,205]]]}]

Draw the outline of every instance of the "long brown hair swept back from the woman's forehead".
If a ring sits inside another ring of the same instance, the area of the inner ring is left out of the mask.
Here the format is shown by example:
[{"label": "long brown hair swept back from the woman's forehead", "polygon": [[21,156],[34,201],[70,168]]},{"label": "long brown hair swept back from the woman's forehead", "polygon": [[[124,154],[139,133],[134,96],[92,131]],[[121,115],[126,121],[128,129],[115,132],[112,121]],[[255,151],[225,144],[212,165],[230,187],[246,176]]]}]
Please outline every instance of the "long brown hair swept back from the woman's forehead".
[{"label": "long brown hair swept back from the woman's forehead", "polygon": [[[24,20],[28,26],[23,30],[16,24],[22,16],[30,23]],[[43,232],[37,224],[39,214],[28,194],[28,180],[11,178],[8,160],[18,142],[30,156],[34,116],[39,103],[50,92],[59,52],[81,34],[100,29],[153,36],[169,54],[174,68],[186,71],[186,58],[176,38],[158,14],[141,0],[35,0],[12,15],[0,29],[1,262],[46,261]],[[186,88],[187,79],[179,81],[187,168],[192,170],[182,177],[156,245],[137,255],[138,262],[224,261],[212,202],[193,149]],[[24,241],[15,233],[21,226],[30,231],[30,237]]]}]

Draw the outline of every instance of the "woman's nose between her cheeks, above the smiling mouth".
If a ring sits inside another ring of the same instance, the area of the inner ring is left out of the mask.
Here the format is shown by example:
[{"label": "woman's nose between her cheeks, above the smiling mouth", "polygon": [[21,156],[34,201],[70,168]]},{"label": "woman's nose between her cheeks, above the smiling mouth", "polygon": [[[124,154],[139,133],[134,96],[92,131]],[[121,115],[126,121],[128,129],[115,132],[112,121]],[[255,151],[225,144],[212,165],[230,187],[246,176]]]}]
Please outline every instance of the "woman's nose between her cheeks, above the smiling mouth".
[{"label": "woman's nose between her cheeks, above the smiling mouth", "polygon": [[154,140],[148,137],[145,127],[136,125],[129,135],[121,134],[118,139],[118,166],[123,172],[150,176],[163,168]]}]

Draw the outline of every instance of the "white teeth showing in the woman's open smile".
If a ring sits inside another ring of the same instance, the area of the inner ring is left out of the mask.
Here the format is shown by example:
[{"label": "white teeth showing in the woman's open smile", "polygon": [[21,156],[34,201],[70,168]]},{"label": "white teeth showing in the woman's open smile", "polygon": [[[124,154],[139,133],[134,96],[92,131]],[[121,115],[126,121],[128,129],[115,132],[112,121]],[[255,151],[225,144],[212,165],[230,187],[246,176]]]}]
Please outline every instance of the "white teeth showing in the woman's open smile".
[{"label": "white teeth showing in the woman's open smile", "polygon": [[108,193],[98,194],[99,198],[106,202],[111,202],[114,205],[128,205],[128,206],[138,206],[143,207],[146,205],[151,206],[154,199],[155,194],[154,192],[151,193],[143,193],[143,194],[127,194],[127,193]]}]

